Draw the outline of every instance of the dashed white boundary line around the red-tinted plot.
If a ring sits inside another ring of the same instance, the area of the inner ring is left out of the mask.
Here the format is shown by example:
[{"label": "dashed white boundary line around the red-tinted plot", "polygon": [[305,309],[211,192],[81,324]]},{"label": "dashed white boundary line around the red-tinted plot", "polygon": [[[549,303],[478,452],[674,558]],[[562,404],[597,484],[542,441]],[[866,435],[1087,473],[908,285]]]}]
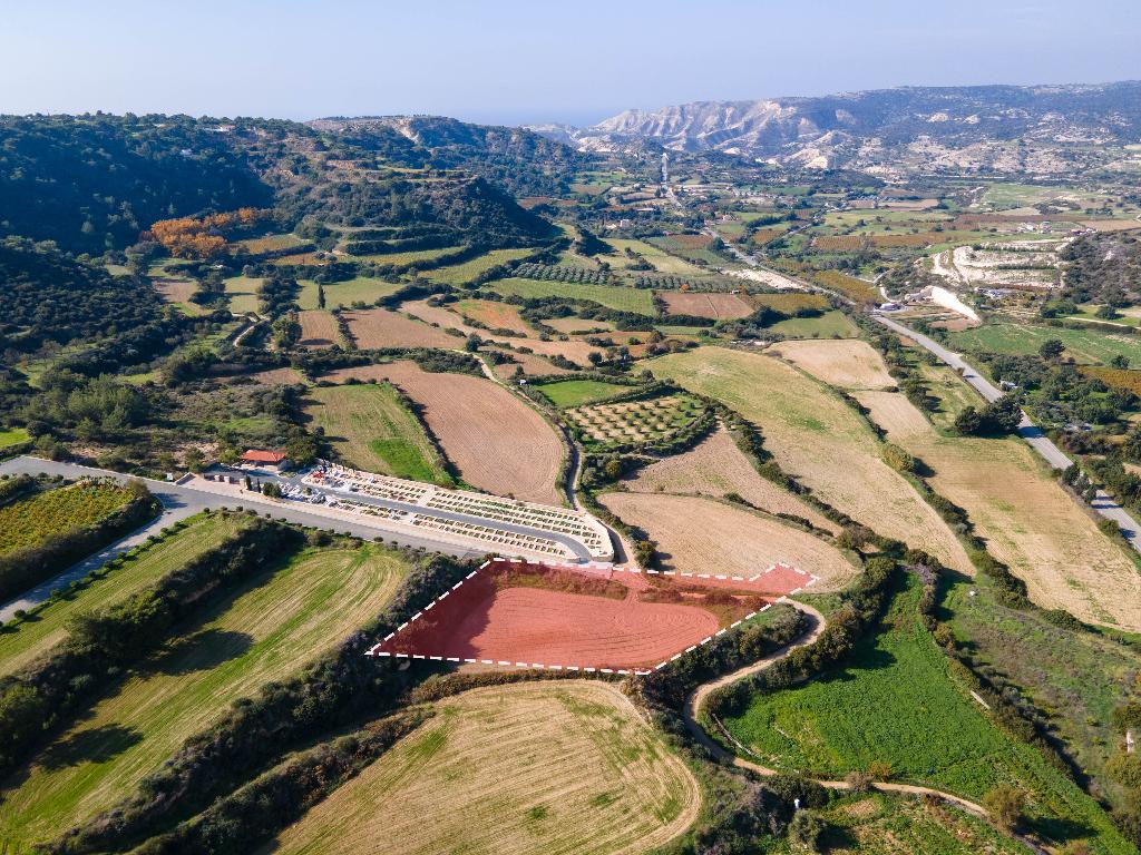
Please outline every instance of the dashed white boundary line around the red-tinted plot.
[{"label": "dashed white boundary line around the red-tinted plot", "polygon": [[784,568],[786,570],[792,570],[793,572],[799,573],[800,576],[803,576],[803,577],[806,577],[808,579],[808,581],[806,581],[799,588],[796,588],[794,591],[791,591],[788,594],[785,594],[785,595],[782,595],[782,596],[777,597],[774,601],[775,603],[784,603],[793,594],[799,594],[804,588],[809,587],[810,585],[815,585],[817,581],[819,581],[819,577],[818,576],[815,576],[815,575],[812,575],[812,573],[810,573],[810,572],[808,572],[806,570],[801,570],[798,567],[793,567],[792,564],[785,564],[785,563],[782,563],[782,562],[775,563],[775,564],[770,565],[769,568],[767,568],[766,570],[762,570],[761,572],[759,572],[759,573],[756,573],[754,576],[745,577],[745,576],[726,576],[726,575],[717,575],[717,573],[687,573],[687,572],[679,572],[677,570],[642,570],[641,568],[638,568],[638,567],[623,567],[623,565],[609,564],[609,563],[599,562],[599,561],[591,561],[591,562],[588,562],[588,563],[583,563],[583,564],[569,564],[569,563],[566,563],[566,562],[527,561],[525,559],[496,557],[496,559],[489,559],[489,560],[485,561],[478,568],[476,568],[470,573],[468,573],[467,576],[464,576],[462,579],[460,579],[460,581],[455,583],[455,585],[453,585],[451,588],[448,588],[443,594],[440,594],[435,600],[432,600],[421,611],[418,611],[415,614],[413,614],[411,618],[408,618],[405,622],[403,622],[398,627],[396,627],[395,630],[393,630],[391,633],[389,633],[388,635],[386,635],[383,637],[383,640],[381,640],[381,642],[379,644],[374,644],[367,651],[365,651],[365,656],[367,656],[367,657],[389,657],[389,658],[393,658],[393,659],[407,659],[407,660],[426,659],[426,660],[436,661],[436,662],[443,662],[443,661],[460,662],[460,661],[462,661],[462,662],[468,663],[468,665],[495,665],[495,666],[516,667],[516,668],[537,668],[537,669],[544,669],[544,670],[551,670],[551,671],[578,671],[578,673],[582,673],[582,674],[621,674],[621,675],[634,674],[634,675],[641,676],[641,675],[646,675],[646,674],[653,674],[656,670],[661,670],[662,668],[664,668],[665,666],[667,666],[670,662],[673,662],[673,661],[680,659],[683,654],[691,653],[695,650],[697,650],[698,648],[701,648],[702,645],[709,644],[711,641],[714,641],[715,638],[725,635],[729,629],[736,629],[738,626],[741,626],[742,624],[744,624],[746,620],[752,620],[753,618],[755,618],[761,612],[766,612],[769,609],[771,609],[772,605],[774,605],[774,603],[768,603],[768,604],[761,606],[761,609],[759,609],[758,611],[750,612],[748,614],[746,614],[745,617],[743,617],[741,620],[736,620],[733,624],[730,624],[727,628],[720,629],[717,633],[714,633],[713,635],[710,635],[710,636],[707,636],[705,638],[702,638],[696,644],[693,644],[693,645],[686,648],[681,652],[674,653],[672,657],[670,657],[669,659],[665,659],[665,660],[658,662],[653,668],[592,668],[592,667],[578,666],[578,665],[547,665],[547,663],[543,663],[543,662],[511,662],[511,661],[507,661],[507,660],[502,660],[502,659],[499,659],[499,660],[493,660],[493,659],[462,659],[461,660],[459,657],[424,656],[424,654],[421,654],[421,653],[389,653],[388,651],[382,651],[380,649],[381,646],[385,645],[386,642],[391,641],[396,636],[397,633],[402,632],[410,624],[419,620],[421,617],[423,617],[423,614],[426,612],[431,611],[431,609],[437,603],[439,603],[442,600],[444,600],[444,597],[446,597],[450,594],[452,594],[453,592],[455,592],[461,585],[463,585],[463,583],[466,583],[469,579],[471,579],[477,572],[479,572],[480,570],[483,570],[485,567],[487,567],[488,564],[491,564],[493,561],[501,562],[501,563],[511,563],[511,564],[532,564],[534,567],[551,567],[551,568],[565,569],[565,570],[578,570],[578,571],[582,571],[582,570],[606,570],[606,571],[624,572],[624,573],[642,573],[642,572],[645,572],[645,573],[652,575],[652,576],[678,576],[678,577],[691,577],[691,578],[695,578],[695,579],[718,579],[718,580],[725,580],[725,581],[747,581],[747,583],[756,581],[762,576],[764,576],[767,573],[770,573],[770,572],[772,572],[774,570],[776,570],[778,568]]}]

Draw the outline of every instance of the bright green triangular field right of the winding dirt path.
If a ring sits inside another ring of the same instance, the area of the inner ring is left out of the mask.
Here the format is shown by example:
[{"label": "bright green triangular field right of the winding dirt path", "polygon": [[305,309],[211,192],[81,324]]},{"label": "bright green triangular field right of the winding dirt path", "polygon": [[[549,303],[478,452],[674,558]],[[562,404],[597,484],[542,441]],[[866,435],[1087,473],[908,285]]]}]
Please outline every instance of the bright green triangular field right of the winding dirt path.
[{"label": "bright green triangular field right of the winding dirt path", "polygon": [[1030,825],[1046,839],[1077,823],[1089,829],[1094,852],[1132,852],[1092,798],[987,719],[920,621],[919,593],[911,580],[884,632],[860,641],[844,667],[755,695],[742,715],[725,719],[729,732],[783,769],[842,777],[890,763],[898,777],[974,800],[1013,783],[1027,791]]}]

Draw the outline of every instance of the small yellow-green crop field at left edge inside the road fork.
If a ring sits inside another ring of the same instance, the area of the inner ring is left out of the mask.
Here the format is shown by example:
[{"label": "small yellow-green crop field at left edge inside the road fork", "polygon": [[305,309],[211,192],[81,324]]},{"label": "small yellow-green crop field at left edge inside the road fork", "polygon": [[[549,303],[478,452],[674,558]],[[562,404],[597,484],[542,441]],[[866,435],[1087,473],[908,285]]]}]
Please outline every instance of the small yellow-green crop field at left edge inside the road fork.
[{"label": "small yellow-green crop field at left edge inside the road fork", "polygon": [[130,498],[131,494],[121,487],[76,484],[7,505],[0,508],[0,554],[38,546],[51,535],[89,526]]}]

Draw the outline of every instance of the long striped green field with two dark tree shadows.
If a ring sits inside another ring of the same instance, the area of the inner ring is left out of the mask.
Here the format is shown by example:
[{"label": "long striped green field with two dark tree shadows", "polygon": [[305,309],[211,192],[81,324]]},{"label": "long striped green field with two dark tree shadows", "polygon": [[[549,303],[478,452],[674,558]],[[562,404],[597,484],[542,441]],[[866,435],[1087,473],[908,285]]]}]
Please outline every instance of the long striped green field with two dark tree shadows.
[{"label": "long striped green field with two dark tree shadows", "polygon": [[0,838],[43,840],[111,807],[232,701],[379,613],[406,571],[375,546],[308,549],[266,569],[6,782]]}]

